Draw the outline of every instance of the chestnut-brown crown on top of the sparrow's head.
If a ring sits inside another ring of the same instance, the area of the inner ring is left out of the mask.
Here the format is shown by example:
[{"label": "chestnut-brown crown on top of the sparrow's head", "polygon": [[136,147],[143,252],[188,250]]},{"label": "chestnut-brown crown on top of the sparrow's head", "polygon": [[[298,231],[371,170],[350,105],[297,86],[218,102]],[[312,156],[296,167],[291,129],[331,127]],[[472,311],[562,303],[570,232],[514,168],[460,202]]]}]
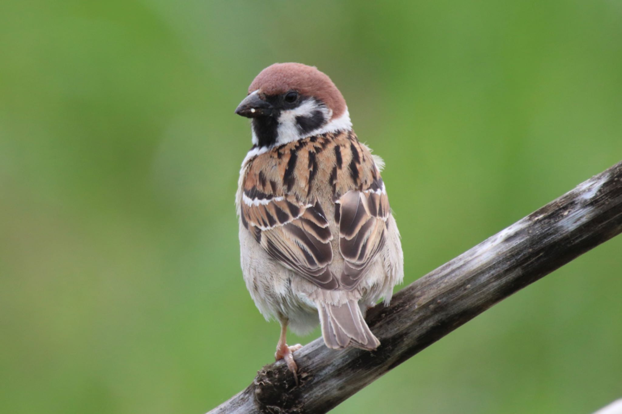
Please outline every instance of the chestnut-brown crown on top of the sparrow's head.
[{"label": "chestnut-brown crown on top of the sparrow's head", "polygon": [[328,75],[315,66],[302,63],[274,63],[262,70],[251,83],[248,92],[261,89],[266,95],[279,95],[297,91],[324,102],[333,110],[332,119],[340,117],[346,110],[346,101]]}]

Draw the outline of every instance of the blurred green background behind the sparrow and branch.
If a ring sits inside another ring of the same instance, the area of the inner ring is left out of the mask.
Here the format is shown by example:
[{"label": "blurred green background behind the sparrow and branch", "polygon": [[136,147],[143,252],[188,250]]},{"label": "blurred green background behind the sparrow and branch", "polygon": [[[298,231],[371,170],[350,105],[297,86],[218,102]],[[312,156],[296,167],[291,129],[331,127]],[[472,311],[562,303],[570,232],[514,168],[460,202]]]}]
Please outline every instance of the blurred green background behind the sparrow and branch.
[{"label": "blurred green background behind the sparrow and branch", "polygon": [[[620,161],[622,2],[499,3],[2,2],[0,412],[204,413],[272,361],[233,206],[251,145],[233,110],[271,63],[328,73],[386,160],[406,283]],[[621,248],[335,412],[621,397]]]}]

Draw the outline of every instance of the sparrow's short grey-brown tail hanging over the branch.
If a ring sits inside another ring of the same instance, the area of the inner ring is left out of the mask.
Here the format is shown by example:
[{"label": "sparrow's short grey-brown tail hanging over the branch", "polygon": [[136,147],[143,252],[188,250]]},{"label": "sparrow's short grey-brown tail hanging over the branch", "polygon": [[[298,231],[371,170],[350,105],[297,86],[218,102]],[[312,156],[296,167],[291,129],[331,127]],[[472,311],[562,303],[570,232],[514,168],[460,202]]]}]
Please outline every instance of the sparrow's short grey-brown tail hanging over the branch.
[{"label": "sparrow's short grey-brown tail hanging over the branch", "polygon": [[354,346],[361,349],[376,349],[378,338],[369,330],[356,300],[343,305],[318,303],[322,336],[328,348],[341,349]]}]

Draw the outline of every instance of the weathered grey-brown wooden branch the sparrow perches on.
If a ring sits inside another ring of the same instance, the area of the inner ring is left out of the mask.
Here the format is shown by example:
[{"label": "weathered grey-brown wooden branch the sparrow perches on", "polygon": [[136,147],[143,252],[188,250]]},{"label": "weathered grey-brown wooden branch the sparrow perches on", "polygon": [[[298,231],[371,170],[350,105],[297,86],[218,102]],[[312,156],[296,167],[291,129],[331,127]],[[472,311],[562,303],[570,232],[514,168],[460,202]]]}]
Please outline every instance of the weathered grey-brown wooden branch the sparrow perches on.
[{"label": "weathered grey-brown wooden branch the sparrow perches on", "polygon": [[385,372],[522,287],[622,232],[622,162],[488,238],[376,306],[381,346],[335,351],[318,338],[210,413],[325,413]]}]

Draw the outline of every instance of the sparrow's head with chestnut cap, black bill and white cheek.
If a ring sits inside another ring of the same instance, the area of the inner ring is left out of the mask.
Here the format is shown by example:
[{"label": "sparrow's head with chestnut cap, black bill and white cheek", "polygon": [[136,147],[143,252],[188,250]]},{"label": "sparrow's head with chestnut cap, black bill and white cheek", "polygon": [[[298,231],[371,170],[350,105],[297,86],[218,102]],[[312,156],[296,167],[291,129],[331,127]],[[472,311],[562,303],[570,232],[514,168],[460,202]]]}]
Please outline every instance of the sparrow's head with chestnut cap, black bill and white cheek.
[{"label": "sparrow's head with chestnut cap, black bill and white cheek", "polygon": [[315,66],[275,63],[262,70],[235,113],[251,119],[253,144],[271,147],[351,128],[346,101]]}]

